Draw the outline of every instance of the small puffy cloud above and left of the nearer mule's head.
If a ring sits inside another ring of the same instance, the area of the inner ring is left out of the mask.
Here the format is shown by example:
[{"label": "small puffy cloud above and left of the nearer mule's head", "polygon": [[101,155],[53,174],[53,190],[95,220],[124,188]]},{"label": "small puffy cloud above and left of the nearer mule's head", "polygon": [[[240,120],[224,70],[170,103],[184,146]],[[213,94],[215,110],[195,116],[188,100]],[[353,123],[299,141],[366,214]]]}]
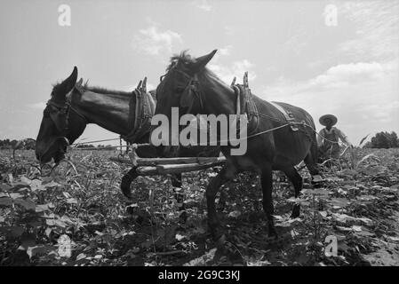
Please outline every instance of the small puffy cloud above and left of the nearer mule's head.
[{"label": "small puffy cloud above and left of the nearer mule's head", "polygon": [[134,36],[133,48],[149,55],[159,55],[162,52],[171,53],[173,44],[182,43],[181,35],[170,29],[161,31],[156,23],[148,28],[140,29]]}]

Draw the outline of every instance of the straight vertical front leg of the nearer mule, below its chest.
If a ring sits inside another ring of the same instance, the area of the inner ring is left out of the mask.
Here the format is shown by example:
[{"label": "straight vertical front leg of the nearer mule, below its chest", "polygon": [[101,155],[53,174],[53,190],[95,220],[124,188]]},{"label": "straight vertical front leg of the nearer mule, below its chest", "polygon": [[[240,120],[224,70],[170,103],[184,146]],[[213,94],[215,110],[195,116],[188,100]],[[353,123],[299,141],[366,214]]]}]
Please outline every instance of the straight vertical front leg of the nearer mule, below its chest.
[{"label": "straight vertical front leg of the nearer mule, below its chest", "polygon": [[275,207],[272,198],[273,179],[271,165],[267,164],[264,166],[260,179],[263,193],[263,210],[267,217],[268,236],[277,238],[277,233],[275,232],[275,219],[273,217]]}]

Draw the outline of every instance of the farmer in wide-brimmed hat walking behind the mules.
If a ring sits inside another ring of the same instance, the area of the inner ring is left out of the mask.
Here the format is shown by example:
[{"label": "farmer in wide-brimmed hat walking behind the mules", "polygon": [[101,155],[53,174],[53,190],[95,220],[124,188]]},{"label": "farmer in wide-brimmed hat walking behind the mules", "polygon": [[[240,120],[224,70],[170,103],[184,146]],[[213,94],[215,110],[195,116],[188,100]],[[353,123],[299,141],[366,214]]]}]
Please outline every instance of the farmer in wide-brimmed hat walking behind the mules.
[{"label": "farmer in wide-brimmed hat walking behind the mules", "polygon": [[337,121],[337,117],[332,114],[324,114],[319,119],[320,124],[325,126],[323,130],[320,130],[319,135],[317,135],[319,155],[323,158],[339,158],[339,139],[345,146],[351,146],[347,140],[347,136],[338,128],[333,127]]}]

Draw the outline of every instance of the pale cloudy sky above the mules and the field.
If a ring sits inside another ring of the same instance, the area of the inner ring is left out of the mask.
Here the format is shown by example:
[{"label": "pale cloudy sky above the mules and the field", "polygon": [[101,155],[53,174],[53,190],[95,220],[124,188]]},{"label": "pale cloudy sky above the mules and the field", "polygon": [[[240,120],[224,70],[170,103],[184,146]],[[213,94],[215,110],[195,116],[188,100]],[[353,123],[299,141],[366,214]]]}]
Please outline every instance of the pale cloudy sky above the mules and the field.
[{"label": "pale cloudy sky above the mules and the field", "polygon": [[[75,65],[93,85],[132,91],[146,75],[155,87],[186,49],[218,49],[209,67],[221,79],[249,71],[254,94],[305,108],[318,130],[336,114],[354,144],[399,133],[398,1],[1,1],[0,35],[0,138],[36,138],[52,83]],[[82,138],[116,137],[92,125]]]}]

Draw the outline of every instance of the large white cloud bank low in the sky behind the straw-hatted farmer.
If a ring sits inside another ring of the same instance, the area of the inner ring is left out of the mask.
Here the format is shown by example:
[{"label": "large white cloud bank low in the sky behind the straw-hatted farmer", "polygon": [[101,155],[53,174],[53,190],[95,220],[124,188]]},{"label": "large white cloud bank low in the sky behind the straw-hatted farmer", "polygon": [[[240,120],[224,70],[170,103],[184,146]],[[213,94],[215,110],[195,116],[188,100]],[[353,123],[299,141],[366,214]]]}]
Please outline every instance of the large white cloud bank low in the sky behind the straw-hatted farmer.
[{"label": "large white cloud bank low in the sky behind the straw-hatted farmer", "polygon": [[357,143],[373,131],[399,130],[398,73],[399,60],[339,64],[306,81],[280,77],[261,97],[303,107],[318,129],[318,117],[335,114],[339,129]]}]

